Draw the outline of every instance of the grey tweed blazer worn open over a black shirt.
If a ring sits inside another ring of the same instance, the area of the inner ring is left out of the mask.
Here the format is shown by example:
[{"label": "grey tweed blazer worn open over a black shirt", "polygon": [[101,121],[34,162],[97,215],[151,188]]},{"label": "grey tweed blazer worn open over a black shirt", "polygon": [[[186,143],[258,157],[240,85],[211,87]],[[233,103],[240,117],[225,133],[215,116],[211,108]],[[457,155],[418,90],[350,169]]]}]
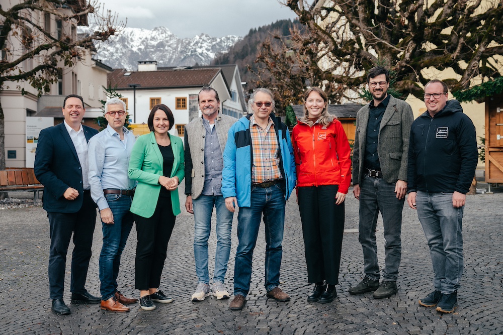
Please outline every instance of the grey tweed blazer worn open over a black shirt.
[{"label": "grey tweed blazer worn open over a black shirt", "polygon": [[[356,115],[356,134],[353,146],[353,185],[360,184],[363,176],[367,125],[370,103],[363,106]],[[396,183],[407,181],[407,160],[410,127],[414,121],[412,108],[400,99],[390,95],[389,102],[379,126],[377,155],[384,180]]]}]

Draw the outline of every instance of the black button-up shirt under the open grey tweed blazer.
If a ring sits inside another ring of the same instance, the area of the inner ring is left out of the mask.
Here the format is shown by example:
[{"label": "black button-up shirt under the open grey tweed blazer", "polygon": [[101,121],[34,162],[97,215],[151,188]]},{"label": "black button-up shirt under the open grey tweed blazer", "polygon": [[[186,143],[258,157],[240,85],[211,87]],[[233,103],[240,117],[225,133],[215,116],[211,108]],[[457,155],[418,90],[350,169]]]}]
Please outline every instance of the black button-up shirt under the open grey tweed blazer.
[{"label": "black button-up shirt under the open grey tweed blazer", "polygon": [[367,124],[367,139],[365,142],[364,167],[371,170],[381,170],[381,163],[377,155],[377,141],[379,137],[379,127],[381,126],[382,116],[388,106],[390,95],[386,96],[377,106],[374,100],[369,105],[369,123]]}]

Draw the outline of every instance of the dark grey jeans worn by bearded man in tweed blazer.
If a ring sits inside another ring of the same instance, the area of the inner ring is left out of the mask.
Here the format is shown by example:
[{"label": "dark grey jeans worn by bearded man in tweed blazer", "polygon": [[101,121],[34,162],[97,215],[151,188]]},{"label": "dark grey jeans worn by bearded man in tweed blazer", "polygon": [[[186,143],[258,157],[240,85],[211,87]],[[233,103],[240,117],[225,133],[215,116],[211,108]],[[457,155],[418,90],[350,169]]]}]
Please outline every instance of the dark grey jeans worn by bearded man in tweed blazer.
[{"label": "dark grey jeans worn by bearded man in tweed blazer", "polygon": [[381,212],[384,227],[384,281],[396,281],[402,254],[401,230],[402,209],[405,198],[398,200],[395,183],[384,178],[364,176],[360,184],[359,238],[363,249],[365,276],[379,280],[377,261],[376,226]]}]

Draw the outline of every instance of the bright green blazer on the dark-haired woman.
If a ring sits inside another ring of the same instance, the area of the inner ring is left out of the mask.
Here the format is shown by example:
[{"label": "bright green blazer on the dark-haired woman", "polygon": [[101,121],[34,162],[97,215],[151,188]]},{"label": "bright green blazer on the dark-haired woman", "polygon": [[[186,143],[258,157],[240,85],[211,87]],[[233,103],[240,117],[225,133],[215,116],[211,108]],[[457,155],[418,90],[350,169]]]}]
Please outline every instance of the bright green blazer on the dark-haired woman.
[{"label": "bright green blazer on the dark-haired woman", "polygon": [[[184,145],[179,137],[170,135],[170,139],[175,156],[170,176],[177,176],[182,182],[185,177]],[[130,209],[132,213],[143,217],[151,217],[154,214],[161,188],[159,177],[164,175],[162,163],[162,154],[155,141],[154,132],[138,137],[131,152],[128,170],[129,178],[138,180]],[[180,214],[178,188],[171,191],[171,203],[173,214]]]}]

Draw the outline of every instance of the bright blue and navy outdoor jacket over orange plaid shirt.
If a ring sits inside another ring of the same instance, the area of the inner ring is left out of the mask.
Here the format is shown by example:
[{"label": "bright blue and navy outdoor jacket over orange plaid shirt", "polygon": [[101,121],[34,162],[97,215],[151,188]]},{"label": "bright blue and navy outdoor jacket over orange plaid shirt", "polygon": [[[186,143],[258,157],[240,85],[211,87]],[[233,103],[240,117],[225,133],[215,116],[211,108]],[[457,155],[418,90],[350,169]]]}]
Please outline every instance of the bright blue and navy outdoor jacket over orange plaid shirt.
[{"label": "bright blue and navy outdoor jacket over orange plaid shirt", "polygon": [[[285,184],[285,200],[295,187],[295,160],[287,126],[271,113],[276,138],[280,145],[281,175]],[[223,153],[222,195],[235,196],[239,207],[250,207],[251,199],[251,114],[239,119],[229,129],[227,144]]]}]

